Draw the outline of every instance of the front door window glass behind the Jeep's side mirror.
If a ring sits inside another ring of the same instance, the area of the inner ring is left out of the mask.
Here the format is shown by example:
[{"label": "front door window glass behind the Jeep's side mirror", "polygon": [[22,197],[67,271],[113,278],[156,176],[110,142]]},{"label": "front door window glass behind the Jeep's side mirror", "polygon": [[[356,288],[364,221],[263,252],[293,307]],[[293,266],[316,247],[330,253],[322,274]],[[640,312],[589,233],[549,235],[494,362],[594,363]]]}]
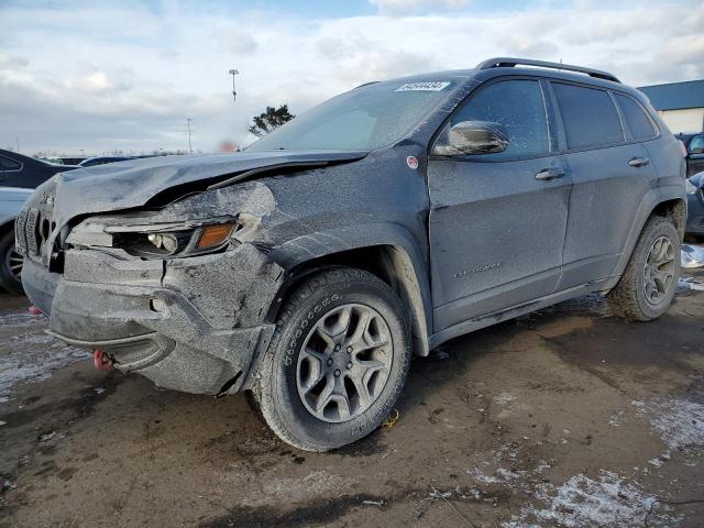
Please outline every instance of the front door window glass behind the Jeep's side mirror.
[{"label": "front door window glass behind the Jeep's side mirror", "polygon": [[542,90],[537,80],[504,80],[470,96],[451,118],[439,138],[462,121],[488,121],[503,124],[508,132],[508,147],[494,154],[469,158],[516,160],[548,153],[548,122]]}]

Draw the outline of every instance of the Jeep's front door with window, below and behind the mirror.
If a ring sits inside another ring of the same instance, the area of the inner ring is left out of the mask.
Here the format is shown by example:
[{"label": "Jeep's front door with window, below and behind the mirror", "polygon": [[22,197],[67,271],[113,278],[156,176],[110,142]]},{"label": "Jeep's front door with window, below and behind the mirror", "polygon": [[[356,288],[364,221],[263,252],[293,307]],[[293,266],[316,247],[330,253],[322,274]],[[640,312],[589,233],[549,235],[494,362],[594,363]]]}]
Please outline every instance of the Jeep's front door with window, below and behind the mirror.
[{"label": "Jeep's front door with window, below and behind the mirror", "polygon": [[557,286],[570,177],[553,154],[554,127],[546,112],[542,82],[499,79],[474,91],[446,124],[497,122],[509,145],[502,153],[428,162],[436,331]]}]

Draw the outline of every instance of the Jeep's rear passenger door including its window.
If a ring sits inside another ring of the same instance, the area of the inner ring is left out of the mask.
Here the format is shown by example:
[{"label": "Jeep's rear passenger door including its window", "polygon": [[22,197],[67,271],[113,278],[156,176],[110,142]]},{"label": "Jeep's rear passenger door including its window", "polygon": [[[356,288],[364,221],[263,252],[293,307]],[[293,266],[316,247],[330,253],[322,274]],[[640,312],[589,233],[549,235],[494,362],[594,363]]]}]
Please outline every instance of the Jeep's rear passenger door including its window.
[{"label": "Jeep's rear passenger door including its window", "polygon": [[622,124],[625,114],[609,90],[557,80],[551,87],[572,176],[558,286],[568,289],[612,276],[656,172],[646,148]]}]

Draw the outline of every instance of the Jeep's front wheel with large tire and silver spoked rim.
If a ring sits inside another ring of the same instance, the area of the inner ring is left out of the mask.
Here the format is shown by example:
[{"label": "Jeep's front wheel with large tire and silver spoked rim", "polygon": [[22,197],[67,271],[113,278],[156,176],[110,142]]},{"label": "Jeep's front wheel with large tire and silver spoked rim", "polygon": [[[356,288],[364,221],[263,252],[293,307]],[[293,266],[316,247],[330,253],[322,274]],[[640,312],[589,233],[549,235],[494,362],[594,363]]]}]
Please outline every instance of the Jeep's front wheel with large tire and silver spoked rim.
[{"label": "Jeep's front wheel with large tire and silver spoked rim", "polygon": [[374,275],[326,271],[280,310],[256,387],[262,415],[285,442],[328,451],[374,431],[410,364],[402,301]]}]

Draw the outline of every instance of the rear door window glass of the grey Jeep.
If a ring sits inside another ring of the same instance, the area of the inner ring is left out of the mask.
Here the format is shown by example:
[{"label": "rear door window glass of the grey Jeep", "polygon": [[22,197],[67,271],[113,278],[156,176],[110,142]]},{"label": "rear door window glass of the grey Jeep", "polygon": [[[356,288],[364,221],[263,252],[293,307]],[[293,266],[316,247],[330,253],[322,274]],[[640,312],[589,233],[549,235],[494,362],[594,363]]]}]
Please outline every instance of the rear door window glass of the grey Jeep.
[{"label": "rear door window glass of the grey Jeep", "polygon": [[552,82],[568,148],[602,146],[624,141],[618,112],[605,90]]}]

